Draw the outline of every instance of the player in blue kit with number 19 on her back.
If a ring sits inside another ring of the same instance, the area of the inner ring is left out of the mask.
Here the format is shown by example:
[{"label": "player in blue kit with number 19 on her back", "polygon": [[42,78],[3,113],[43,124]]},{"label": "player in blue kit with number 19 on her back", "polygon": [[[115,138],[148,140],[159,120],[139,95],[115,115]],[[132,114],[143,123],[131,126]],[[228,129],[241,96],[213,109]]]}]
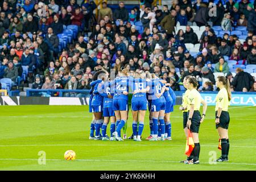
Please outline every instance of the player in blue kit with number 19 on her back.
[{"label": "player in blue kit with number 19 on her back", "polygon": [[[133,113],[133,140],[141,142],[141,134],[144,127],[144,117],[147,110],[146,92],[150,89],[144,79],[145,76],[140,73],[134,73],[131,88],[133,90],[133,97],[131,98],[131,110]],[[139,130],[137,133],[137,121],[139,121]]]}]

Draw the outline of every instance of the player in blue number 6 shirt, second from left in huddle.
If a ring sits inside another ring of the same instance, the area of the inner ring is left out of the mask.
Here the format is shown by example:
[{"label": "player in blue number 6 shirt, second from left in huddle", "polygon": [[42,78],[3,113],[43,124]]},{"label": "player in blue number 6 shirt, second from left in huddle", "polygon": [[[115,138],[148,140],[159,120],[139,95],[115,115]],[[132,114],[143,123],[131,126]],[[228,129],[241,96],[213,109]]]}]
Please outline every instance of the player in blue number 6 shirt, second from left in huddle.
[{"label": "player in blue number 6 shirt, second from left in huddle", "polygon": [[[106,137],[106,129],[109,124],[109,121],[111,122],[110,125],[110,136],[115,131],[115,113],[113,110],[113,95],[111,93],[111,89],[113,86],[113,81],[109,82],[106,81],[104,84],[102,84],[102,87],[98,89],[97,91],[94,91],[93,93],[99,93],[100,96],[104,97],[104,104],[103,104],[103,117],[104,117],[104,123],[102,125],[102,140],[109,140],[108,137]],[[113,137],[110,138],[110,140],[114,140]]]}]

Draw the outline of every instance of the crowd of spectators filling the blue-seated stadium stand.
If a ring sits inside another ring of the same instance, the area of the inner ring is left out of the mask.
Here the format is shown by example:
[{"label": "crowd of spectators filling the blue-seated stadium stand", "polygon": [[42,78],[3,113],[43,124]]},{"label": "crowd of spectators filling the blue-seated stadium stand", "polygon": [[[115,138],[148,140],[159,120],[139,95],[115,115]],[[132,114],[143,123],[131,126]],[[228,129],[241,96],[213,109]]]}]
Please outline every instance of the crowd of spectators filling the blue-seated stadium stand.
[{"label": "crowd of spectators filling the blue-seated stadium stand", "polygon": [[128,10],[125,2],[115,9],[104,2],[96,16],[97,5],[87,0],[1,1],[0,79],[33,89],[90,89],[100,69],[127,68],[157,73],[174,90],[183,90],[188,75],[200,91],[215,90],[224,73],[234,91],[256,91],[254,1],[152,3]]}]

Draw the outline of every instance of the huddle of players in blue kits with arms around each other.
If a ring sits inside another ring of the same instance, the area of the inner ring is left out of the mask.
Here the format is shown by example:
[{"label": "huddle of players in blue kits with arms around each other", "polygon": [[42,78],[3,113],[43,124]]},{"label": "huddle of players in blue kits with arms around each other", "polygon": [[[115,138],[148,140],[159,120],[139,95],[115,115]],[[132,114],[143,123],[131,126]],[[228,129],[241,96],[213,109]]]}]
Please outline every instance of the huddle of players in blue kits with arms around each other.
[{"label": "huddle of players in blue kits with arms around each other", "polygon": [[[132,138],[141,141],[148,108],[150,137],[147,139],[171,140],[170,113],[174,110],[176,96],[166,81],[149,72],[140,71],[130,75],[127,69],[123,69],[118,77],[109,80],[109,73],[102,70],[95,73],[91,86],[89,111],[93,113],[93,121],[90,126],[90,139],[122,140],[121,130],[126,127],[130,99],[133,115]],[[110,138],[106,135],[109,121]]]}]

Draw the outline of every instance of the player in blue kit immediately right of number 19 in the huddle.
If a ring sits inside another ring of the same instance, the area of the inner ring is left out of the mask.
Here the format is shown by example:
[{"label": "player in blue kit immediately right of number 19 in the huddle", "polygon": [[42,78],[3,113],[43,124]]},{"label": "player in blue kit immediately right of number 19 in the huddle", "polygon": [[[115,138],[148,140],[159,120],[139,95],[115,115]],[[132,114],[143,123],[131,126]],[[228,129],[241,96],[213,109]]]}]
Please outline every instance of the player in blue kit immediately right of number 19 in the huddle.
[{"label": "player in blue kit immediately right of number 19 in the huddle", "polygon": [[151,88],[149,90],[148,98],[152,100],[151,103],[151,112],[152,112],[152,121],[153,121],[153,131],[154,134],[151,141],[158,140],[158,119],[160,122],[161,130],[161,140],[164,140],[165,125],[164,125],[164,110],[166,110],[166,100],[163,96],[166,86],[160,82],[159,78],[154,74],[152,75]]}]

